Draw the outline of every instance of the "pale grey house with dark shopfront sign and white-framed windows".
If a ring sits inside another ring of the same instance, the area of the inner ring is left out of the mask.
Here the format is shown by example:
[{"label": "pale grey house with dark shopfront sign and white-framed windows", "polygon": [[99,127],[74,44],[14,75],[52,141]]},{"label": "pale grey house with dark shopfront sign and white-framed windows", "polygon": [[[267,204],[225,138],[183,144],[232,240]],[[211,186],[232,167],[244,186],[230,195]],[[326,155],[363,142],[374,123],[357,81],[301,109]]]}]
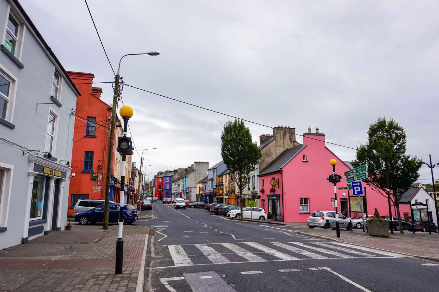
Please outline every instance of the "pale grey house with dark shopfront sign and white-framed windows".
[{"label": "pale grey house with dark shopfront sign and white-framed windows", "polygon": [[65,229],[79,91],[17,0],[0,0],[0,249]]}]

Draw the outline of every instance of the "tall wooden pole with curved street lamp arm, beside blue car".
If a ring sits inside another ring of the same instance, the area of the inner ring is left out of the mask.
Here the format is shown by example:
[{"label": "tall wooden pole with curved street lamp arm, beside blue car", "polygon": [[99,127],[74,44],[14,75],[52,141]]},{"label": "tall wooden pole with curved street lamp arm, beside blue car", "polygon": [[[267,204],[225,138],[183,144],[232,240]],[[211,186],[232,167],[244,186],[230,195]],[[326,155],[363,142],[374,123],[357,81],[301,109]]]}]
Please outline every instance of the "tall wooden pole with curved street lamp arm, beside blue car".
[{"label": "tall wooden pole with curved street lamp arm, beside blue car", "polygon": [[[111,163],[113,161],[113,146],[114,146],[114,129],[116,127],[116,108],[117,108],[117,102],[119,101],[119,69],[120,69],[120,62],[122,59],[126,56],[130,55],[150,55],[150,56],[157,56],[160,53],[158,52],[149,52],[149,53],[139,53],[139,54],[126,54],[122,56],[119,60],[119,67],[117,68],[117,73],[115,76],[115,83],[114,83],[114,92],[113,92],[113,105],[112,105],[112,112],[111,112],[111,122],[110,122],[110,138],[108,139],[108,152],[107,152],[107,176],[105,181],[105,207],[104,207],[104,224],[102,224],[102,229],[108,229],[108,215],[109,215],[109,208],[110,208],[110,180],[111,180]],[[125,130],[124,130],[125,132]]]}]

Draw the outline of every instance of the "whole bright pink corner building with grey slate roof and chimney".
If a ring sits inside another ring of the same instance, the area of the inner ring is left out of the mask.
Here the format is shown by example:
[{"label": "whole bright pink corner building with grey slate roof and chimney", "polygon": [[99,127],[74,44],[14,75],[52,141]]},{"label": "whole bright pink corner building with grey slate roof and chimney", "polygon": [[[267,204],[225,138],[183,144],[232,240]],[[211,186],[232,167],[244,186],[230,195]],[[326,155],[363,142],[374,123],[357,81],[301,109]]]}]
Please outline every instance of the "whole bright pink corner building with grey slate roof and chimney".
[{"label": "whole bright pink corner building with grey slate roof and chimney", "polygon": [[[281,213],[285,222],[306,222],[313,211],[334,209],[331,206],[334,185],[326,179],[332,173],[331,159],[337,160],[335,172],[343,177],[337,187],[347,185],[343,173],[351,169],[349,162],[343,162],[329,150],[325,135],[318,133],[318,129],[316,132],[311,133],[309,128],[308,133],[303,134],[302,145],[284,150],[264,169],[259,169],[260,207],[267,213]],[[272,187],[272,180],[278,181],[277,186]],[[377,208],[381,216],[388,215],[387,198],[366,184],[364,186],[368,213],[373,215]],[[347,190],[337,190],[337,200],[338,212],[348,215]]]}]

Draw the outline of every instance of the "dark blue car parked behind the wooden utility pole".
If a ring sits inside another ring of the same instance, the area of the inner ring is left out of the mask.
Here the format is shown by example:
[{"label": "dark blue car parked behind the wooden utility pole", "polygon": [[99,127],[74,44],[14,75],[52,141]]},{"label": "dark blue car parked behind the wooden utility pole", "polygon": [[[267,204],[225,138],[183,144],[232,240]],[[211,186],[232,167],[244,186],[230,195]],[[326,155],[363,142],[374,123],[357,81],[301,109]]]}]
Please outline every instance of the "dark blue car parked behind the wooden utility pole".
[{"label": "dark blue car parked behind the wooden utility pole", "polygon": [[[110,204],[108,212],[108,223],[119,222],[119,204]],[[132,224],[137,220],[137,212],[133,205],[123,206],[123,224]],[[104,205],[99,205],[93,209],[80,212],[75,216],[75,222],[81,225],[87,223],[102,223],[104,222]]]}]

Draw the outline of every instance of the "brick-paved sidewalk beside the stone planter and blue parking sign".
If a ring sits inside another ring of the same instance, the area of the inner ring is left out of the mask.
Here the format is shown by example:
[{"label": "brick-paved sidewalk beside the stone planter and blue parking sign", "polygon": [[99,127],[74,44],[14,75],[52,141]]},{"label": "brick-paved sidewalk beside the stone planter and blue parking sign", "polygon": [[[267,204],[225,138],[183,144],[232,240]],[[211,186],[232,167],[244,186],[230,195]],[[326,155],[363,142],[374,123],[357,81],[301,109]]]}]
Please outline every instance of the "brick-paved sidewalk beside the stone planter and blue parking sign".
[{"label": "brick-paved sidewalk beside the stone planter and blue parking sign", "polygon": [[299,234],[320,236],[355,245],[400,252],[410,256],[439,261],[439,235],[437,233],[429,235],[428,232],[417,232],[412,234],[411,232],[404,231],[404,234],[400,234],[399,231],[394,231],[394,234],[391,234],[389,238],[379,238],[373,236],[366,237],[362,231],[354,229],[353,232],[340,230],[340,238],[336,238],[335,230],[314,228],[302,229],[299,231]]}]

